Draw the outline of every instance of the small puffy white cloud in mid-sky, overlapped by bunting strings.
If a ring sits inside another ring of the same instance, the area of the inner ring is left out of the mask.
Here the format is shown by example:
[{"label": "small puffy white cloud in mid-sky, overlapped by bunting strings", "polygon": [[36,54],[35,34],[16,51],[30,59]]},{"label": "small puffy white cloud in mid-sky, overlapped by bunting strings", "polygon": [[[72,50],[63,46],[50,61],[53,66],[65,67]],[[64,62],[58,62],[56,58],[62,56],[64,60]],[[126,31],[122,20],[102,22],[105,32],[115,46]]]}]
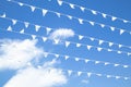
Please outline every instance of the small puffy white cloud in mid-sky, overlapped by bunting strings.
[{"label": "small puffy white cloud in mid-sky, overlapped by bunting strings", "polygon": [[55,39],[63,40],[63,39],[67,39],[69,37],[73,37],[73,36],[74,36],[74,32],[72,29],[59,28],[59,29],[56,29],[55,32],[52,32],[50,34],[49,38],[52,40],[55,40]]}]

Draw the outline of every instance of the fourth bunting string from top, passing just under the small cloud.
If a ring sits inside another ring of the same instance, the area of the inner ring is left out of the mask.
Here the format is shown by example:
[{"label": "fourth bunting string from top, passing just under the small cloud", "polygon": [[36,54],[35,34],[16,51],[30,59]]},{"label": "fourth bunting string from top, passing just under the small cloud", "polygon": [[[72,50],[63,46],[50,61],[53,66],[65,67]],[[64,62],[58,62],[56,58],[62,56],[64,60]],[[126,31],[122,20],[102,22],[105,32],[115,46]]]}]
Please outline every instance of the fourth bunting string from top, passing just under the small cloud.
[{"label": "fourth bunting string from top, passing just under the small cloud", "polygon": [[[19,33],[19,34],[25,34],[25,35],[29,35],[32,36],[33,39],[35,39],[36,37],[40,37],[44,42],[46,42],[47,40],[50,40],[48,37],[45,37],[45,36],[38,36],[38,35],[33,35],[33,34],[27,34],[25,33],[25,29],[21,29],[20,32],[15,32],[12,29],[11,26],[9,26],[7,28],[8,32],[13,32],[13,33]],[[96,49],[98,52],[103,51],[103,50],[106,50],[108,52],[116,52],[118,54],[127,54],[128,57],[131,55],[131,52],[127,52],[127,51],[120,51],[120,50],[114,50],[114,49],[109,49],[109,48],[102,48],[102,47],[96,47],[96,46],[91,46],[91,45],[85,45],[85,44],[79,44],[79,42],[74,42],[74,41],[68,41],[68,40],[60,40],[60,39],[53,39],[53,42],[55,45],[64,45],[67,48],[69,48],[69,46],[73,45],[75,46],[76,48],[80,48],[80,47],[85,47],[88,51],[91,49]],[[64,44],[61,44],[61,42],[64,42]]]}]

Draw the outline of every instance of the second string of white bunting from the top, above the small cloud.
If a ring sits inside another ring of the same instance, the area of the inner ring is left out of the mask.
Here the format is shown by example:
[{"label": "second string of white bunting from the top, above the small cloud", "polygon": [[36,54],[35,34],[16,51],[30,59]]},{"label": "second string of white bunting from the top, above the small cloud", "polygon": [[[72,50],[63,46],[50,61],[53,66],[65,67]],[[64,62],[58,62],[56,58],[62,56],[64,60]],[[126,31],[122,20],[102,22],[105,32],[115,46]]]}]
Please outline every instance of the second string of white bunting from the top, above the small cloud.
[{"label": "second string of white bunting from the top, above the small cloud", "polygon": [[103,24],[103,23],[97,23],[97,22],[84,20],[84,18],[81,18],[81,17],[72,16],[72,15],[69,15],[69,14],[63,14],[63,13],[60,13],[60,12],[56,12],[56,11],[51,11],[51,10],[47,10],[47,9],[43,9],[43,8],[38,8],[38,7],[34,7],[34,5],[17,2],[17,1],[14,1],[14,0],[9,0],[9,1],[14,2],[14,3],[16,3],[16,4],[21,5],[21,7],[28,7],[28,8],[31,8],[32,12],[34,12],[36,9],[40,10],[41,13],[43,13],[43,16],[46,16],[47,13],[53,13],[58,17],[66,16],[69,20],[76,20],[80,24],[88,23],[92,26],[99,25],[102,28],[109,28],[111,32],[119,30],[120,35],[122,35],[123,33],[128,33],[129,35],[131,35],[130,30],[126,30],[123,28],[118,28],[118,27],[106,25],[106,24]]}]

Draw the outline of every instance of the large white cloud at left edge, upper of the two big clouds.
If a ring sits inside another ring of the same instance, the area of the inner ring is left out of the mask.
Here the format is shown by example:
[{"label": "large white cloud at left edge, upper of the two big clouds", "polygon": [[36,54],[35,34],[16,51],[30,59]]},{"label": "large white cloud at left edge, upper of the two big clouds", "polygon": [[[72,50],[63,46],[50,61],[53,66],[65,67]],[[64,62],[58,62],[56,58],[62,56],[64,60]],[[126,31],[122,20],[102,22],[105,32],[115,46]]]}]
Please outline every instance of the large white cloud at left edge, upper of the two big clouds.
[{"label": "large white cloud at left edge, upper of the two big clouds", "polygon": [[36,47],[36,40],[0,40],[0,70],[17,70],[39,58],[43,50]]}]

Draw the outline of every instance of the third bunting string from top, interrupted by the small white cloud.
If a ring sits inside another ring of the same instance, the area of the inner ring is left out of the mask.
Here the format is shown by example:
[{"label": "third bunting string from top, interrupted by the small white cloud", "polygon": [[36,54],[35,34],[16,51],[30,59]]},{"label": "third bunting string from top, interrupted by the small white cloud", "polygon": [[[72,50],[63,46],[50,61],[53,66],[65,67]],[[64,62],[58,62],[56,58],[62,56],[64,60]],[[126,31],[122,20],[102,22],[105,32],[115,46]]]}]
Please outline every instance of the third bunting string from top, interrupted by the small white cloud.
[{"label": "third bunting string from top, interrupted by the small white cloud", "polygon": [[[25,26],[25,28],[27,28],[29,25],[33,25],[33,26],[35,26],[35,30],[36,30],[36,32],[38,32],[39,29],[44,28],[44,29],[46,29],[47,35],[48,35],[51,30],[55,29],[55,28],[50,28],[50,27],[47,27],[47,26],[41,26],[41,25],[32,24],[32,23],[28,23],[28,22],[23,22],[23,21],[19,21],[19,20],[14,20],[14,18],[7,17],[7,16],[5,16],[5,13],[4,13],[4,16],[1,15],[0,17],[10,20],[10,21],[12,22],[12,25],[15,25],[17,22],[23,23],[24,26]],[[79,35],[79,34],[75,34],[75,36],[78,36],[79,40],[90,39],[91,41],[97,41],[99,46],[103,45],[103,44],[108,44],[109,47],[117,46],[118,48],[128,48],[128,49],[131,49],[131,46],[126,46],[126,45],[121,45],[121,44],[116,44],[116,42],[112,42],[112,41],[106,41],[106,40],[98,39],[98,38],[94,38],[94,37],[90,37],[90,36],[83,36],[83,35]]]}]

